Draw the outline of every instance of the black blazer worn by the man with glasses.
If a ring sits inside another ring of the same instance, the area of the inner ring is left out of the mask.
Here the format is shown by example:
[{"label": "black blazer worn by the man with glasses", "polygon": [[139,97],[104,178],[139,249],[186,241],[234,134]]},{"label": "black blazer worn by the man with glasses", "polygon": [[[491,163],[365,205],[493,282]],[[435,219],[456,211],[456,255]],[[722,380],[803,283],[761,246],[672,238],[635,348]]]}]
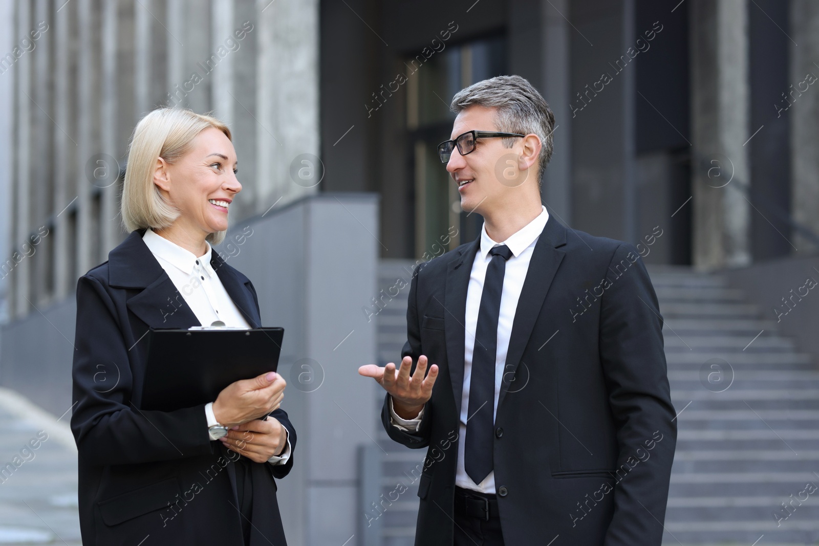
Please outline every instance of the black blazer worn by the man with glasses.
[{"label": "black blazer worn by the man with glasses", "polygon": [[[418,433],[391,426],[388,399],[382,409],[393,440],[428,447],[419,546],[453,539],[464,313],[479,244],[422,264],[410,285],[403,356],[426,354],[440,367]],[[634,246],[550,217],[518,301],[495,417],[505,544],[560,535],[559,544],[659,546],[676,444],[662,324]]]}]

